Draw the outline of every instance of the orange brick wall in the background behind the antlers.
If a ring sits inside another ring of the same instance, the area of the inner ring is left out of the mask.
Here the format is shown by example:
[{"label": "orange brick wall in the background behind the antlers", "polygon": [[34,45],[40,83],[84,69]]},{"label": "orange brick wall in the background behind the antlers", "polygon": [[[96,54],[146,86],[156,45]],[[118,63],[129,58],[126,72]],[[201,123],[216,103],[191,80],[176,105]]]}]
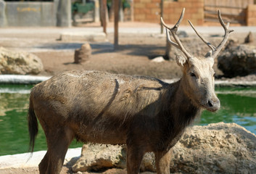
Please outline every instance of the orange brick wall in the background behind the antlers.
[{"label": "orange brick wall in the background behind the antlers", "polygon": [[[134,0],[133,3],[134,21],[160,23],[161,0]],[[190,20],[194,25],[220,25],[217,21],[205,22],[204,0],[166,0],[163,3],[163,18],[166,23],[175,24],[181,15],[181,10],[185,7],[186,12],[181,25],[189,25],[185,19]],[[256,4],[248,5],[246,20],[247,25],[256,25]]]}]

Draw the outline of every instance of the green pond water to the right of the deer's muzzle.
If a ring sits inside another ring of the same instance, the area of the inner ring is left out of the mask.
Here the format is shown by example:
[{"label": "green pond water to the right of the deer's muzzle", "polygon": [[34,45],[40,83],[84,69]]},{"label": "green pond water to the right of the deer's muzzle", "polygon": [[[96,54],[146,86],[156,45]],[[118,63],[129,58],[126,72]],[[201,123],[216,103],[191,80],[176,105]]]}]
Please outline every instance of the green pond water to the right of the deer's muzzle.
[{"label": "green pond water to the right of the deer's muzzle", "polygon": [[256,134],[256,88],[216,88],[218,112],[203,112],[199,125],[236,123]]}]

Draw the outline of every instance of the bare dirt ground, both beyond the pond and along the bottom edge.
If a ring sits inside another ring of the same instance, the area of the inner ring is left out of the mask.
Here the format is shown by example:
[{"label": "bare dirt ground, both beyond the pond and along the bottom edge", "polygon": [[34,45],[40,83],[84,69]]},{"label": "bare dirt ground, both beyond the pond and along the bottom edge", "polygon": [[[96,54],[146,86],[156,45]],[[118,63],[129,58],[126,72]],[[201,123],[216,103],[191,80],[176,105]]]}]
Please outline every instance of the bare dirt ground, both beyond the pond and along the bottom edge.
[{"label": "bare dirt ground, both beyond the pond and along the bottom edge", "polygon": [[[239,43],[244,41],[247,33],[232,36]],[[149,75],[161,79],[180,78],[181,70],[176,61],[152,62],[154,57],[165,56],[165,35],[160,34],[120,34],[119,48],[113,47],[113,34],[110,33],[105,43],[90,42],[91,58],[88,62],[74,64],[74,51],[84,42],[59,41],[59,35],[44,34],[11,34],[1,33],[0,46],[16,51],[29,51],[41,58],[44,71],[38,75],[51,76],[66,70],[103,70],[128,75]],[[255,39],[256,40],[256,39]],[[198,39],[199,45],[204,43]],[[256,45],[256,41],[252,43]],[[206,52],[202,53],[202,56]],[[214,66],[218,77],[223,73]],[[223,78],[224,79],[224,78]],[[234,80],[256,80],[256,75],[237,77]],[[0,170],[1,173],[38,173],[37,167],[9,168]],[[70,166],[62,168],[62,174],[72,173]],[[125,170],[107,170],[108,173],[126,173]]]}]

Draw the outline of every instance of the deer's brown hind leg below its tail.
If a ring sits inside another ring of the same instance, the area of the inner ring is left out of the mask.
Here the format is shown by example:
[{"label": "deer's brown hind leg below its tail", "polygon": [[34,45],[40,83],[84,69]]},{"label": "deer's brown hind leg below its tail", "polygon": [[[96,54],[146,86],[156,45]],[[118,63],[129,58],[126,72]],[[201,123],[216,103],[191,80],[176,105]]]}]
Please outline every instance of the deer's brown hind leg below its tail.
[{"label": "deer's brown hind leg below its tail", "polygon": [[60,173],[68,146],[74,138],[70,128],[45,130],[48,150],[39,164],[40,173]]}]

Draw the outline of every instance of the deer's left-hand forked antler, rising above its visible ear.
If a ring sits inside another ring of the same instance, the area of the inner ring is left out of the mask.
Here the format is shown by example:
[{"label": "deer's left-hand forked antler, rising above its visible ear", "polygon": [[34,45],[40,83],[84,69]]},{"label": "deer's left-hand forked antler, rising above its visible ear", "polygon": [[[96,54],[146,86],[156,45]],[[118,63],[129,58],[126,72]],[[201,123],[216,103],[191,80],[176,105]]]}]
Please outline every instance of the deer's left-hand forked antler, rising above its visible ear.
[{"label": "deer's left-hand forked antler, rising above its visible ear", "polygon": [[182,10],[182,12],[181,12],[181,17],[180,17],[180,19],[178,20],[178,22],[176,23],[176,25],[173,26],[173,28],[170,28],[168,25],[166,25],[165,22],[164,22],[164,20],[162,20],[162,17],[161,17],[161,22],[162,22],[162,25],[165,26],[165,28],[167,28],[168,30],[170,30],[170,33],[172,33],[173,38],[174,38],[174,40],[175,40],[177,43],[171,41],[170,35],[169,35],[169,33],[168,33],[168,30],[166,30],[166,32],[167,32],[166,35],[167,35],[167,37],[168,37],[168,41],[169,41],[173,46],[176,46],[176,48],[180,49],[180,50],[183,52],[183,54],[185,54],[186,57],[189,59],[189,58],[191,58],[191,55],[190,55],[189,52],[186,51],[186,49],[183,47],[183,45],[182,45],[182,43],[181,43],[181,41],[180,41],[180,39],[178,38],[177,33],[176,33],[177,30],[178,30],[178,26],[180,25],[181,21],[183,20],[184,13],[185,13],[185,8],[183,8],[183,10]]}]

